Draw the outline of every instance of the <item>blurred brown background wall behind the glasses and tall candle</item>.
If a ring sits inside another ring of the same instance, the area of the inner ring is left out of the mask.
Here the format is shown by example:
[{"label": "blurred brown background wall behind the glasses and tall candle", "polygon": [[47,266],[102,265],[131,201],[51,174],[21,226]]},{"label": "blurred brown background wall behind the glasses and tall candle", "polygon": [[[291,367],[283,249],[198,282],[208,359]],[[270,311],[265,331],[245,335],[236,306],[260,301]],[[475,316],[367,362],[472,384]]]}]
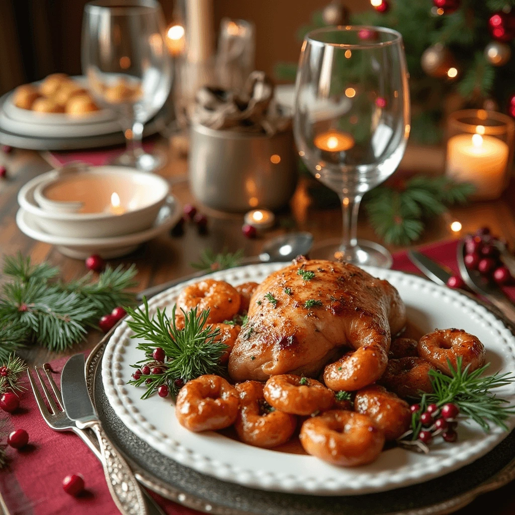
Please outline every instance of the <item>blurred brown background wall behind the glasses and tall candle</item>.
[{"label": "blurred brown background wall behind the glasses and tall candle", "polygon": [[[173,0],[160,0],[167,23]],[[82,10],[87,0],[0,0],[0,93],[49,73],[80,74]],[[123,3],[123,2],[121,2]],[[296,61],[297,29],[329,0],[215,0],[213,26],[228,18],[256,26],[256,68],[272,73],[277,61]],[[345,0],[352,11],[368,0]]]}]

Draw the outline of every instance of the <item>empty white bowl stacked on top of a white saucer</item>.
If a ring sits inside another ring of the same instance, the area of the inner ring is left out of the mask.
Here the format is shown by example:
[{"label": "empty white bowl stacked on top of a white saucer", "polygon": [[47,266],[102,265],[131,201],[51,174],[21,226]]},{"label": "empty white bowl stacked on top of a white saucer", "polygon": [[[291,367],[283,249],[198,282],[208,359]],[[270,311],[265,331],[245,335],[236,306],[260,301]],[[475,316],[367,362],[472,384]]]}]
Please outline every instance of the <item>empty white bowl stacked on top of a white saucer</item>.
[{"label": "empty white bowl stacked on top of a white saucer", "polygon": [[[38,219],[38,225],[49,234],[56,236],[70,236],[81,238],[105,238],[144,231],[148,229],[156,219],[157,213],[163,205],[168,192],[168,182],[155,174],[124,166],[96,166],[85,171],[79,171],[76,175],[63,175],[62,180],[73,180],[77,176],[113,177],[122,178],[120,188],[127,190],[127,196],[132,195],[139,206],[120,215],[109,212],[99,213],[67,213],[62,211],[47,211],[42,209],[35,200],[36,188],[43,183],[57,180],[60,175],[58,170],[51,170],[46,174],[27,182],[18,193],[20,207]],[[149,193],[150,192],[150,193]],[[107,192],[108,197],[113,192]],[[122,193],[119,191],[118,193]],[[106,192],[91,194],[104,195]],[[152,197],[150,200],[147,197]]]}]

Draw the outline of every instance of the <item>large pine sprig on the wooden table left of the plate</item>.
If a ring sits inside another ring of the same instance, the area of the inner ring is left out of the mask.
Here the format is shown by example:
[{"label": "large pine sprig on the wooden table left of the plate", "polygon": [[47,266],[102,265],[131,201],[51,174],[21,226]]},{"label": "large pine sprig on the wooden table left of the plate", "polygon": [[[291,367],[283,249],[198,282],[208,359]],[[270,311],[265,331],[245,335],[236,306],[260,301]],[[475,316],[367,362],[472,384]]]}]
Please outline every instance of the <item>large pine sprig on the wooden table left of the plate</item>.
[{"label": "large pine sprig on the wooden table left of the plate", "polygon": [[0,358],[6,359],[22,345],[35,343],[62,351],[84,338],[88,327],[114,307],[133,304],[126,291],[134,286],[134,266],[109,266],[97,281],[89,273],[64,283],[57,268],[32,265],[21,253],[5,258],[4,274],[11,279],[0,290]]}]

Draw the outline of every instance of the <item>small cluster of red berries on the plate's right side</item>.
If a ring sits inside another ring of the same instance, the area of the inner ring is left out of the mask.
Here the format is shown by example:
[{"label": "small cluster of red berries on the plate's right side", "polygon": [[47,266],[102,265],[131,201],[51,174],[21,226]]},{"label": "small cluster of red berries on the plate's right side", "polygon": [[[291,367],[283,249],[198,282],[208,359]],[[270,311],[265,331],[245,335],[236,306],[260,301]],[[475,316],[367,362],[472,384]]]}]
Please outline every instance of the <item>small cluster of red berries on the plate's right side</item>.
[{"label": "small cluster of red berries on the plate's right side", "polygon": [[423,413],[420,404],[410,406],[411,413],[420,414],[420,422],[423,429],[418,434],[418,439],[429,445],[435,436],[441,435],[446,442],[455,442],[458,438],[456,433],[457,416],[459,408],[456,404],[448,403],[439,408],[436,404],[427,406]]}]

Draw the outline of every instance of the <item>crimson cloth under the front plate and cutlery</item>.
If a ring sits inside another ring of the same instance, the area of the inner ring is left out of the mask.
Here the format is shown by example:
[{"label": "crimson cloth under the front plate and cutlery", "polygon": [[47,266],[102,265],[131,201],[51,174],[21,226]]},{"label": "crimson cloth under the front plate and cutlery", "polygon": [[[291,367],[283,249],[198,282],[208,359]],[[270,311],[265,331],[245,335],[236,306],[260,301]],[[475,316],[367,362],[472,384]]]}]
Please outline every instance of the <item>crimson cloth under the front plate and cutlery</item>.
[{"label": "crimson cloth under the front plate and cutlery", "polygon": [[[456,241],[438,243],[426,246],[421,251],[457,272],[456,245]],[[394,255],[393,268],[418,272],[409,262],[406,252]],[[54,374],[56,382],[59,382],[65,361],[66,358],[61,358],[52,363],[54,370],[58,372]],[[30,388],[28,381],[26,386]],[[11,515],[118,513],[96,457],[73,433],[57,433],[46,425],[30,389],[22,395],[20,409],[8,416],[3,425],[0,424],[0,433],[8,434],[18,428],[24,428],[28,432],[30,444],[21,451],[8,448],[10,465],[0,470],[0,491]],[[5,442],[5,436],[1,440]],[[87,492],[77,498],[66,494],[62,489],[63,478],[74,473],[84,476],[87,488]],[[152,495],[170,515],[199,513],[164,500],[158,495]]]}]

